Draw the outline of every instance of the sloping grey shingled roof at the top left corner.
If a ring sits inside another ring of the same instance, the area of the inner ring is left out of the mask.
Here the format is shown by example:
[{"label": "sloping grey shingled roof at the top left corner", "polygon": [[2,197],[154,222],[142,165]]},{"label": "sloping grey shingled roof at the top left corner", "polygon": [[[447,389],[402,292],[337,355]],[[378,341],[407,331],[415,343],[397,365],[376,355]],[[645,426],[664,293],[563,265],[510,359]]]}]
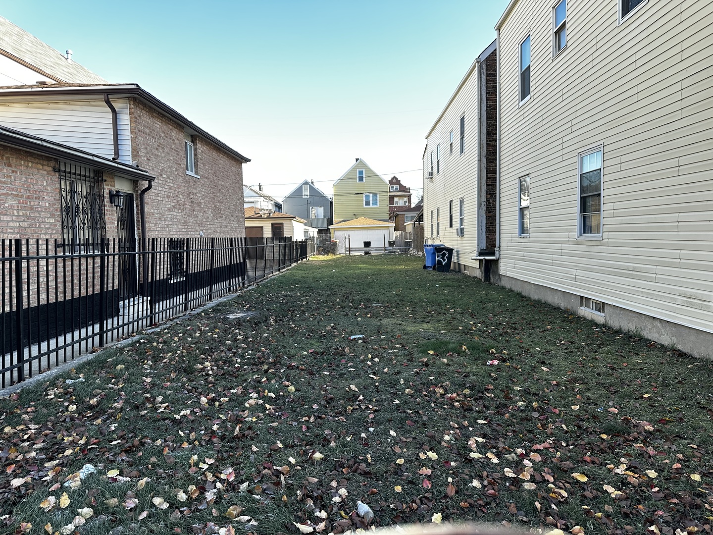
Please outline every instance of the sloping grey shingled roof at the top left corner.
[{"label": "sloping grey shingled roof at the top left corner", "polygon": [[0,54],[58,82],[106,83],[98,74],[68,60],[60,51],[0,16]]}]

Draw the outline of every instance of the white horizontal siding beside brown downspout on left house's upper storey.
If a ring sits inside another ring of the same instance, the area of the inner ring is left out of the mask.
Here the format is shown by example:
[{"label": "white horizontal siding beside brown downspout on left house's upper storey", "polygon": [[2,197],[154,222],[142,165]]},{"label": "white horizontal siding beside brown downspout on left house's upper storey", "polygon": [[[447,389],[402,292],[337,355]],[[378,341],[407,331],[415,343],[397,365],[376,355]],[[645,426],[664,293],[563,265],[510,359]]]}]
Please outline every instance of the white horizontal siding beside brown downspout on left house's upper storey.
[{"label": "white horizontal siding beside brown downspout on left house's upper storey", "polygon": [[[117,111],[119,161],[131,163],[128,101],[111,101]],[[0,123],[98,156],[114,156],[111,110],[104,101],[0,102]]]}]

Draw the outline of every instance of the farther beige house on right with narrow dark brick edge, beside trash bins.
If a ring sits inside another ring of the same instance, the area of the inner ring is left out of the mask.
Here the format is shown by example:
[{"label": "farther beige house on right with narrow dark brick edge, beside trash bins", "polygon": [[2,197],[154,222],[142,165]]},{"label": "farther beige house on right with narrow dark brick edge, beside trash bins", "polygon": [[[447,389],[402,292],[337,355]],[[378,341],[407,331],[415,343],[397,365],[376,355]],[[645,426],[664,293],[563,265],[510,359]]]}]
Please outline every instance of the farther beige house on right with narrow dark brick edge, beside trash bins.
[{"label": "farther beige house on right with narrow dark brick edge, beside trash bins", "polygon": [[[486,144],[488,117],[491,126],[497,118],[493,106],[496,66],[497,50],[493,42],[473,61],[446,103],[426,136],[424,152],[425,237],[430,243],[453,248],[451,269],[481,278],[485,262],[494,260],[496,255],[496,140],[492,140],[491,146]],[[488,79],[492,96],[489,108]],[[491,136],[494,131],[491,128]],[[489,183],[488,149],[493,163]],[[493,198],[489,211],[488,194]],[[491,223],[489,237],[486,220]],[[488,260],[484,260],[486,257]]]}]

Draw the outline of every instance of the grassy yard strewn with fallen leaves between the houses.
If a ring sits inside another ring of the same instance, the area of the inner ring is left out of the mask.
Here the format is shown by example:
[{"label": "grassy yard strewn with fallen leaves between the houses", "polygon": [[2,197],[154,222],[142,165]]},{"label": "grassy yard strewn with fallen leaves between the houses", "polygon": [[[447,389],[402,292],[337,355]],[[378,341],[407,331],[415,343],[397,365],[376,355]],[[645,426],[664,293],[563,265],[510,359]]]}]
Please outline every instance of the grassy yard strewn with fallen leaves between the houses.
[{"label": "grassy yard strewn with fallen leaves between the houses", "polygon": [[421,264],[302,263],[0,399],[0,533],[712,531],[711,362]]}]

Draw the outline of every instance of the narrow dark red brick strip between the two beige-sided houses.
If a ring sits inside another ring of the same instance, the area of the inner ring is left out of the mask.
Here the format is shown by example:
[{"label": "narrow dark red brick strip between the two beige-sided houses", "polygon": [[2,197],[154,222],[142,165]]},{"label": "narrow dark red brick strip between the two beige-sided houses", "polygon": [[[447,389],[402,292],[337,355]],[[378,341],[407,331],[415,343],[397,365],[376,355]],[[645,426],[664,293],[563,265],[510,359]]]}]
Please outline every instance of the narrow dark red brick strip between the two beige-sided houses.
[{"label": "narrow dark red brick strip between the two beige-sided houses", "polygon": [[486,58],[486,249],[498,236],[498,51]]}]

